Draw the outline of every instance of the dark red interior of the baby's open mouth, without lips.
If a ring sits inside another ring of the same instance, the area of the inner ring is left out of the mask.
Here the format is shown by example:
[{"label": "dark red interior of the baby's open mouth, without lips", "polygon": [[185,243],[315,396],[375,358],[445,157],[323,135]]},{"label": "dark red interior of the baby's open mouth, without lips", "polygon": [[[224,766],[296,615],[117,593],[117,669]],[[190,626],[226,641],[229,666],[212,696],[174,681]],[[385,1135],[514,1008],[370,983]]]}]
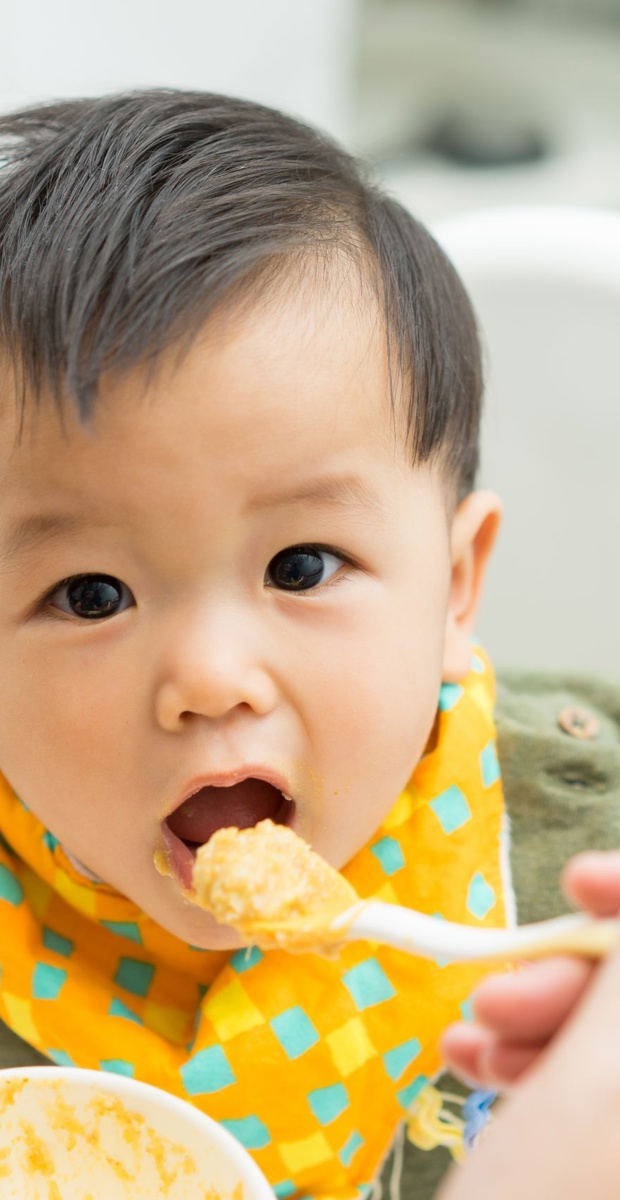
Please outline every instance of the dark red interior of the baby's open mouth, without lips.
[{"label": "dark red interior of the baby's open mouth, without lips", "polygon": [[284,821],[288,802],[282,792],[263,779],[243,779],[233,787],[201,787],[167,820],[181,841],[203,845],[222,826],[251,826],[271,817]]}]

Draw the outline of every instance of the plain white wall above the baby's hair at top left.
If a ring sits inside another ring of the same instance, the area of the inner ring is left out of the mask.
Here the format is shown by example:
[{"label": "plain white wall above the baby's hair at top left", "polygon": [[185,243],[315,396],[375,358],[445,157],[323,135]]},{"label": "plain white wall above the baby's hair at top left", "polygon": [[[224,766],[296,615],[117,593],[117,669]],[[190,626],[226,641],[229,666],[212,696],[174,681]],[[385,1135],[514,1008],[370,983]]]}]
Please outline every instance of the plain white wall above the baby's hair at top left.
[{"label": "plain white wall above the baby's hair at top left", "polygon": [[0,0],[0,108],[225,91],[348,138],[356,0]]}]

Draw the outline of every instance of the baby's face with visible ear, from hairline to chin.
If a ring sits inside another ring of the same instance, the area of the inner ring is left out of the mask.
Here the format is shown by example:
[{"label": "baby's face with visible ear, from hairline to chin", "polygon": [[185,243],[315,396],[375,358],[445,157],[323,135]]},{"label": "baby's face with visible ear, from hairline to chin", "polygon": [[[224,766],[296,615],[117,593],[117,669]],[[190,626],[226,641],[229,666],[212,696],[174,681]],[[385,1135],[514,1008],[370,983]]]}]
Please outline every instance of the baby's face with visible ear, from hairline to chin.
[{"label": "baby's face with visible ear, from hairline to chin", "polygon": [[342,866],[466,666],[445,484],[399,448],[360,308],[211,323],[90,431],[32,406],[16,444],[4,416],[0,768],[195,946],[236,936],[183,899],[193,844],[271,816]]}]

